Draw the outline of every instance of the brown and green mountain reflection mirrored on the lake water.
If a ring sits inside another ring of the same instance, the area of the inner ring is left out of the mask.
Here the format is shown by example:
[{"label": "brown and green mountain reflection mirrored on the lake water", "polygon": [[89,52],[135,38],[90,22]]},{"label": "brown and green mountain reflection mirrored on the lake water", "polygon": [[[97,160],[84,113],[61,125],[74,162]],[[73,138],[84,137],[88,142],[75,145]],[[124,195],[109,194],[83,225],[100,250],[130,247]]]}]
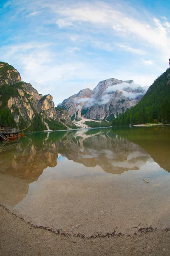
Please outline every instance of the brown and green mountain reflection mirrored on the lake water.
[{"label": "brown and green mountain reflection mirrored on the lake water", "polygon": [[170,172],[169,145],[169,128],[105,128],[27,134],[16,148],[0,153],[0,201],[9,206],[22,201],[29,184],[36,181],[44,169],[57,166],[59,155],[86,167],[100,166],[103,171],[116,175],[139,170],[153,158]]}]

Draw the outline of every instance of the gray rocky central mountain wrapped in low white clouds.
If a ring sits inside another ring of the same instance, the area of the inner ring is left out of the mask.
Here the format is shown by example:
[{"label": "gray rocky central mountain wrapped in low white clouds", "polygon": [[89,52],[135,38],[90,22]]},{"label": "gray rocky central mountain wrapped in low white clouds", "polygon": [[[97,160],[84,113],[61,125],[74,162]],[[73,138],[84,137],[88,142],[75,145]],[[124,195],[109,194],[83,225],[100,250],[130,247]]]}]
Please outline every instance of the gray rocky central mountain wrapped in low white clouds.
[{"label": "gray rocky central mountain wrapped in low white clouds", "polygon": [[144,90],[133,80],[122,81],[115,78],[99,82],[94,90],[84,89],[65,99],[62,104],[72,119],[106,119],[125,112],[136,105]]}]

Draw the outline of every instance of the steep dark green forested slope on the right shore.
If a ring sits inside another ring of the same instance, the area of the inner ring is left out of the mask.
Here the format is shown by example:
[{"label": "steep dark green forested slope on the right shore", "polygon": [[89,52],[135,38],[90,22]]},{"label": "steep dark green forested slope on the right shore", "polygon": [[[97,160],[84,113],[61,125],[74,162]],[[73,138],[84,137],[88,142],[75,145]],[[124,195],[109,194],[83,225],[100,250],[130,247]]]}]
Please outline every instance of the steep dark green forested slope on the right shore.
[{"label": "steep dark green forested slope on the right shore", "polygon": [[170,68],[149,87],[142,100],[112,120],[113,125],[170,122]]}]

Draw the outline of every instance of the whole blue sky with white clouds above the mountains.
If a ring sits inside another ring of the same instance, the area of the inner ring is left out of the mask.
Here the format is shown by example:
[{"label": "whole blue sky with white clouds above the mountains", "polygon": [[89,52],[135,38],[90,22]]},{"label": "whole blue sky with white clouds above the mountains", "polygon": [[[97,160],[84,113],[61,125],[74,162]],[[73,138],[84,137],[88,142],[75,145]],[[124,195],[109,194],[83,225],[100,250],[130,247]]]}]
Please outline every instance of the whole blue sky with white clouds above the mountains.
[{"label": "whole blue sky with white clouds above the mountains", "polygon": [[169,0],[0,0],[0,61],[55,105],[105,79],[148,86],[169,58]]}]

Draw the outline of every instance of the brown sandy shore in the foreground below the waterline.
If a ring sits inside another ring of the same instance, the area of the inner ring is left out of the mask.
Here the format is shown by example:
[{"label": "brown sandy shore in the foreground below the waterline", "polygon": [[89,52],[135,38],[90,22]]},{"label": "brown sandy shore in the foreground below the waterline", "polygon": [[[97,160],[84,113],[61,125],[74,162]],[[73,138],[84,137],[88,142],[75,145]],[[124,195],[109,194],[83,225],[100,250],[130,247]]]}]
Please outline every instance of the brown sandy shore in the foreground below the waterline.
[{"label": "brown sandy shore in the foreground below the waterline", "polygon": [[32,227],[0,207],[0,255],[2,256],[169,256],[170,231],[155,230],[132,236],[94,239],[57,235]]}]

